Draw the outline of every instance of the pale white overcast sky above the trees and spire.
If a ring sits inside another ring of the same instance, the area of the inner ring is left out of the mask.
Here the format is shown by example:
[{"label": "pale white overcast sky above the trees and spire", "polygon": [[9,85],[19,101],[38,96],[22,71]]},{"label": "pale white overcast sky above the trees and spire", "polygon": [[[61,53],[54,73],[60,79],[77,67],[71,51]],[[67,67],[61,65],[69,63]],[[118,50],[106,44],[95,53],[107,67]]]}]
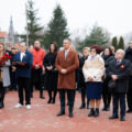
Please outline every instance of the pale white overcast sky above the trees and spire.
[{"label": "pale white overcast sky above the trees and spire", "polygon": [[[25,26],[26,0],[0,0],[0,28],[8,31],[10,16],[19,33]],[[132,31],[132,0],[34,0],[41,24],[46,25],[52,12],[61,3],[70,32],[90,28],[97,22],[112,35],[124,35]]]}]

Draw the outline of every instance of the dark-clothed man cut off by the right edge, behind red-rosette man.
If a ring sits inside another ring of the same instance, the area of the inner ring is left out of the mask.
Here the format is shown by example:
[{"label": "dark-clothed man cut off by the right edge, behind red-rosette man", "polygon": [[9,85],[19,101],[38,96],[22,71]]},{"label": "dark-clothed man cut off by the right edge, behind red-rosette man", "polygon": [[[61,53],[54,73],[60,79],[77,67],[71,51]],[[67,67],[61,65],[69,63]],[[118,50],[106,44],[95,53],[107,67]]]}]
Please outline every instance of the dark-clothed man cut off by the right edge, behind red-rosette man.
[{"label": "dark-clothed man cut off by the right edge, behind red-rosette man", "polygon": [[[130,42],[130,46],[125,51],[125,58],[131,62],[132,66],[132,41]],[[132,72],[131,76],[129,77],[129,90],[127,94],[127,100],[128,100],[128,113],[132,112]]]}]

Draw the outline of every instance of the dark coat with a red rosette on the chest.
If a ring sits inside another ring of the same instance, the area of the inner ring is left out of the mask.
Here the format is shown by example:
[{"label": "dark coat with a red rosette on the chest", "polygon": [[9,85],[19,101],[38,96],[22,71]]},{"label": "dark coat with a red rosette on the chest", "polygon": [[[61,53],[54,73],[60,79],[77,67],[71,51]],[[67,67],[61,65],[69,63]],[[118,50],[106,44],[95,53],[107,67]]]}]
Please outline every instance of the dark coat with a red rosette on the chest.
[{"label": "dark coat with a red rosette on the chest", "polygon": [[122,59],[120,65],[117,65],[117,59],[109,64],[109,77],[118,75],[117,87],[113,89],[116,94],[127,94],[129,88],[129,76],[131,72],[131,63],[128,59]]}]

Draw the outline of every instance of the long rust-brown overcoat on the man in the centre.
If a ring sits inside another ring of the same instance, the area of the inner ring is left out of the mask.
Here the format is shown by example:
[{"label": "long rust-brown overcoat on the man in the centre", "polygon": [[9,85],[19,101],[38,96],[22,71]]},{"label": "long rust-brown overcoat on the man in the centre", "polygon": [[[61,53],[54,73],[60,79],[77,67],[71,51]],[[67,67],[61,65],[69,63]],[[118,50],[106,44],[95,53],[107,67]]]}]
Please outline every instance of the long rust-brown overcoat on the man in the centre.
[{"label": "long rust-brown overcoat on the man in the centre", "polygon": [[[56,57],[56,68],[58,69],[58,89],[76,88],[76,69],[79,67],[78,55],[75,51],[69,51],[65,59],[65,52],[61,51]],[[62,74],[61,69],[67,69],[67,74]]]}]

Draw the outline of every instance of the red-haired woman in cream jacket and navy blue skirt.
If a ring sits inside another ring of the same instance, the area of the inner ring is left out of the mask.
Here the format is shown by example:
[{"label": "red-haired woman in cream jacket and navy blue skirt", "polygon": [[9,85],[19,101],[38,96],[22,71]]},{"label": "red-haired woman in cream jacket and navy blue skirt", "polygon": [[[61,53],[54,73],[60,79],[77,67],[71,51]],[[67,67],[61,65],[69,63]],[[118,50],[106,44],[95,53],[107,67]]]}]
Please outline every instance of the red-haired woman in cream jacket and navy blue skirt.
[{"label": "red-haired woman in cream jacket and navy blue skirt", "polygon": [[[99,107],[102,90],[102,76],[105,73],[105,62],[100,55],[99,46],[91,46],[90,56],[85,62],[82,73],[86,80],[87,98],[90,99],[90,112],[88,117],[99,117]],[[96,110],[95,110],[96,106]]]}]

